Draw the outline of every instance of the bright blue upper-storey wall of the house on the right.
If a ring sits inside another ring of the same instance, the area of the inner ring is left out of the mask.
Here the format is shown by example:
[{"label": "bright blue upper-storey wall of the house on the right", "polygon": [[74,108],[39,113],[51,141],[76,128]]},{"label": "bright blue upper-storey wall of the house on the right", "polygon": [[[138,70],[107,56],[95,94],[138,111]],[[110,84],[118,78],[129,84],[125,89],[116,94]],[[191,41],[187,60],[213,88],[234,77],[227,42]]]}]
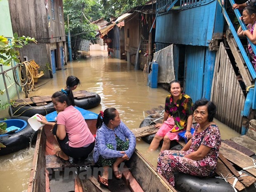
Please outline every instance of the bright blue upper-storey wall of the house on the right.
[{"label": "bright blue upper-storey wall of the house on the right", "polygon": [[[156,17],[156,42],[209,46],[213,36],[218,1],[170,11]],[[218,10],[218,14],[221,12]],[[216,28],[216,32],[218,32]]]}]

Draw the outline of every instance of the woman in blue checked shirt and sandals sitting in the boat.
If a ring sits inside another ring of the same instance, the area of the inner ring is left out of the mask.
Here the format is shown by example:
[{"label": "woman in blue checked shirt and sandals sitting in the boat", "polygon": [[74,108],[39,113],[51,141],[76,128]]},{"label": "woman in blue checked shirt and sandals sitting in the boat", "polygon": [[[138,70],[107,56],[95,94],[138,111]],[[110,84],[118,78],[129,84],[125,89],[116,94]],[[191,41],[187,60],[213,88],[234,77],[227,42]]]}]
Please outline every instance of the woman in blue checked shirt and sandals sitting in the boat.
[{"label": "woman in blue checked shirt and sandals sitting in the boat", "polygon": [[132,156],[136,138],[130,129],[121,121],[119,112],[115,108],[100,111],[97,119],[95,148],[93,159],[104,171],[99,175],[100,184],[108,187],[109,167],[112,166],[114,176],[122,177],[118,166]]}]

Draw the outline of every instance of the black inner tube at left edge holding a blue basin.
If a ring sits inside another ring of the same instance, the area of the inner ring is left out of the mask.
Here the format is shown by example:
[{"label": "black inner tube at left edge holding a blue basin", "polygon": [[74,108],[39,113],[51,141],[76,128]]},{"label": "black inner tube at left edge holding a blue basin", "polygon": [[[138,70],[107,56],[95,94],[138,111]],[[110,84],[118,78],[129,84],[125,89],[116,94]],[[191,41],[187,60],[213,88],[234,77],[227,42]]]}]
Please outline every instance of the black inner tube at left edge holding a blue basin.
[{"label": "black inner tube at left edge holding a blue basin", "polygon": [[[24,121],[24,128],[16,131],[10,131],[9,134],[0,135],[0,142],[6,147],[1,148],[0,156],[17,152],[29,146],[30,142],[35,143],[37,137],[37,131],[35,132],[28,123],[29,117],[7,117],[6,119],[20,119]],[[0,119],[4,121],[4,119]],[[31,137],[33,137],[31,139]]]}]

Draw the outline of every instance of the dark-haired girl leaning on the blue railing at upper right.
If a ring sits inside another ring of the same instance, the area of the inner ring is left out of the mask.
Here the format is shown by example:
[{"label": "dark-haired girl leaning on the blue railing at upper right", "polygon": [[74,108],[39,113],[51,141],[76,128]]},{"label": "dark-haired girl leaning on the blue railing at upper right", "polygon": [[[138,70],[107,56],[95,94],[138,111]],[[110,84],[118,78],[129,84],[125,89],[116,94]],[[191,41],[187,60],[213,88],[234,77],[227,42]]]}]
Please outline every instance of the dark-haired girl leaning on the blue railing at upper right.
[{"label": "dark-haired girl leaning on the blue railing at upper right", "polygon": [[[247,36],[249,40],[251,40],[251,43],[254,45],[256,44],[256,30],[254,30],[255,23],[256,23],[256,5],[249,5],[244,8],[243,15],[240,18],[244,21],[245,24],[247,24],[248,30],[243,31],[242,27],[240,26],[237,30],[237,35],[239,37]],[[248,42],[247,50],[250,55],[251,63],[254,66],[254,70],[256,71],[256,56],[253,52],[250,43]]]}]

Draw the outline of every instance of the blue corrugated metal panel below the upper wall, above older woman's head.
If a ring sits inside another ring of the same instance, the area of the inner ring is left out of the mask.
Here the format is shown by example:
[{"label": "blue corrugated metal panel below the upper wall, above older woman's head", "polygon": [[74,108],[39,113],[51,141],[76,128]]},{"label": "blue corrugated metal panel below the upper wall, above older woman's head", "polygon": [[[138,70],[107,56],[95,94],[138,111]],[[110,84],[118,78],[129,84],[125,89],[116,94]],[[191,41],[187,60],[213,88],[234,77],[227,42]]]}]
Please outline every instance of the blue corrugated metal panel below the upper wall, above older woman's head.
[{"label": "blue corrugated metal panel below the upper wall, above older woman's head", "polygon": [[193,102],[202,97],[206,47],[186,46],[184,91]]}]

